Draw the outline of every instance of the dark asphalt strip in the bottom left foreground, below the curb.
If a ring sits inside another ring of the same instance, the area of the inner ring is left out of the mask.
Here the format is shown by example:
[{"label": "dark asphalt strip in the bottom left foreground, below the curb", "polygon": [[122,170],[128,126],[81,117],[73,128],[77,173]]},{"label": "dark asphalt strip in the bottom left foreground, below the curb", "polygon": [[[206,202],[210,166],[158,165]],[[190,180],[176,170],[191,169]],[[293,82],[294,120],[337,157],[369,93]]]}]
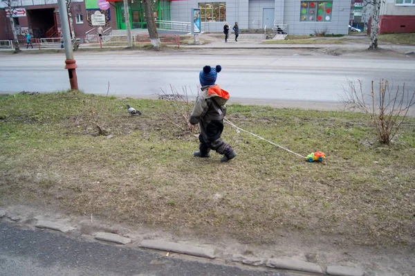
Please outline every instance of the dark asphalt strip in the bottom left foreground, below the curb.
[{"label": "dark asphalt strip in the bottom left foreground, below the curb", "polygon": [[0,223],[0,276],[202,276],[273,275],[270,270],[225,266],[165,257],[41,230],[23,230]]}]

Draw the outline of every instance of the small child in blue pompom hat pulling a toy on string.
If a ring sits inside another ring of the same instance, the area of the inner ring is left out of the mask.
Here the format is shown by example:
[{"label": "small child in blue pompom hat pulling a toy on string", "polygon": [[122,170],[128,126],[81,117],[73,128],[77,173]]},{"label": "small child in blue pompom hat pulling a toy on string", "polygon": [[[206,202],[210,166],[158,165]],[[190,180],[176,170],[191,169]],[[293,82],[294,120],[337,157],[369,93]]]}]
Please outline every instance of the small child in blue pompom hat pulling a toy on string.
[{"label": "small child in blue pompom hat pulling a toy on string", "polygon": [[223,131],[223,118],[226,116],[225,103],[229,100],[229,93],[215,84],[217,73],[221,72],[220,65],[212,68],[208,65],[203,67],[199,73],[201,82],[201,93],[196,98],[192,114],[189,119],[189,128],[199,123],[201,134],[199,134],[199,151],[194,151],[196,157],[210,157],[210,150],[213,149],[223,154],[221,162],[237,156],[237,152],[230,145],[221,139]]}]

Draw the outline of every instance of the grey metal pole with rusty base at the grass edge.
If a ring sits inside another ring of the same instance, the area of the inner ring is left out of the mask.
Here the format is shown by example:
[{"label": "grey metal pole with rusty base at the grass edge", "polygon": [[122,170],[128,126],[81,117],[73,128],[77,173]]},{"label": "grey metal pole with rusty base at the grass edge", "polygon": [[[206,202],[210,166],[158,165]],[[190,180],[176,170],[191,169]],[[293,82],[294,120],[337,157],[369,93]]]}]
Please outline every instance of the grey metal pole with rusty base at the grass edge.
[{"label": "grey metal pole with rusty base at the grass edge", "polygon": [[76,61],[73,59],[73,49],[71,41],[71,33],[69,30],[68,10],[66,8],[65,0],[57,0],[57,7],[59,9],[59,19],[61,21],[62,33],[64,35],[64,47],[65,47],[65,69],[68,69],[69,83],[72,90],[77,90],[77,77],[75,68],[77,68]]}]

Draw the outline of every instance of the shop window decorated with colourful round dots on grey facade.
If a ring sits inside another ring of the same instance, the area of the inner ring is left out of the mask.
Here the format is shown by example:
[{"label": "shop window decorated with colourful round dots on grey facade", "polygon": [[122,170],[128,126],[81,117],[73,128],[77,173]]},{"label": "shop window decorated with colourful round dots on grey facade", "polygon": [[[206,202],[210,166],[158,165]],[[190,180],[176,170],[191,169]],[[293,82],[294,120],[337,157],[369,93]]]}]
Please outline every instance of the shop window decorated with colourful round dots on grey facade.
[{"label": "shop window decorated with colourful round dots on grey facade", "polygon": [[301,1],[299,21],[330,22],[333,15],[333,1]]}]

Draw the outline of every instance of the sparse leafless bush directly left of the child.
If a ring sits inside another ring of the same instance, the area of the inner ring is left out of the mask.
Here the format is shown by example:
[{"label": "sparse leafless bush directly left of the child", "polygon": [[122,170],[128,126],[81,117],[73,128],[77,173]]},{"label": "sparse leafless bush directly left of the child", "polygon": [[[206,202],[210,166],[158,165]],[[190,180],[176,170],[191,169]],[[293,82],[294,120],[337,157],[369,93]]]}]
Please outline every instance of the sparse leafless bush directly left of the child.
[{"label": "sparse leafless bush directly left of the child", "polygon": [[170,85],[170,92],[167,93],[167,91],[161,89],[158,99],[166,100],[171,107],[170,110],[166,110],[163,114],[165,120],[182,131],[189,131],[187,123],[194,105],[194,94],[192,89],[189,88],[188,91],[186,86],[182,87],[182,92],[183,94],[178,93],[177,89]]}]

